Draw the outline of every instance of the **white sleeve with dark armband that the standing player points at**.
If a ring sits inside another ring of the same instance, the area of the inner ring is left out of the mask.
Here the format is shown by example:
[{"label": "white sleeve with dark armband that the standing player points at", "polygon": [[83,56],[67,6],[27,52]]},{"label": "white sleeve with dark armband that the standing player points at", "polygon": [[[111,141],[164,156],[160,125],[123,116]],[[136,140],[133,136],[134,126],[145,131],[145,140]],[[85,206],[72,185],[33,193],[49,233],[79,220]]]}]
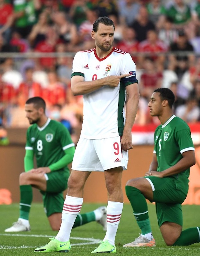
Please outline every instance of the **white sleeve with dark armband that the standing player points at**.
[{"label": "white sleeve with dark armband that the standing player points at", "polygon": [[128,77],[121,78],[125,86],[132,83],[138,83],[138,80],[136,78],[136,65],[129,53],[126,53],[123,55],[121,65],[120,65],[120,73],[122,75],[130,74],[130,76]]}]

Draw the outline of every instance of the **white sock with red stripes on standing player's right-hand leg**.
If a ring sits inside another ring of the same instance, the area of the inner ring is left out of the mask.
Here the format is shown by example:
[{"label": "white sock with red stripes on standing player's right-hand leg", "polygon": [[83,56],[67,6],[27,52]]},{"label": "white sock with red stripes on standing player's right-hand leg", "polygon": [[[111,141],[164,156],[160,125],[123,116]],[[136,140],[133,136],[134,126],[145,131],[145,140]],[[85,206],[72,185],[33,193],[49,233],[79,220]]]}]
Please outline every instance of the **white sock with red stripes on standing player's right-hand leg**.
[{"label": "white sock with red stripes on standing player's right-hand leg", "polygon": [[107,206],[107,231],[103,241],[108,240],[112,245],[115,244],[115,236],[119,226],[123,203],[108,201]]}]

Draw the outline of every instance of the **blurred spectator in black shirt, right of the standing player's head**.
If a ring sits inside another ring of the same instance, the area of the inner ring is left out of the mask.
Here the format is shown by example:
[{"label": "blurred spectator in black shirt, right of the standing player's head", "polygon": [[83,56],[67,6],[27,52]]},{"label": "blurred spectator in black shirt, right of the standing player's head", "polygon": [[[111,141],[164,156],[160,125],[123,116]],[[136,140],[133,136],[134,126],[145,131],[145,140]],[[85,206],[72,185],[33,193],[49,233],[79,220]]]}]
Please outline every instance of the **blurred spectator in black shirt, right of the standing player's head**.
[{"label": "blurred spectator in black shirt, right of the standing player's head", "polygon": [[136,32],[136,39],[141,42],[147,39],[147,32],[155,30],[155,24],[149,19],[149,14],[145,6],[141,6],[136,19],[131,24]]}]

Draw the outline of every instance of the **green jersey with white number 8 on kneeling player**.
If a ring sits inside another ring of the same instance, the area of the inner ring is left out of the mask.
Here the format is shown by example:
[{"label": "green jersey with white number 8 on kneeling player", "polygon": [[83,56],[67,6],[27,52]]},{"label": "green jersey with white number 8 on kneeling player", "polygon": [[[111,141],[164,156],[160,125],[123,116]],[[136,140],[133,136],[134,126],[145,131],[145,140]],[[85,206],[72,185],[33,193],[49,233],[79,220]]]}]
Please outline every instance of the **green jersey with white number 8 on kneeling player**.
[{"label": "green jersey with white number 8 on kneeling player", "polygon": [[[47,122],[39,127],[31,125],[26,134],[26,150],[33,150],[37,167],[48,167],[59,161],[64,150],[74,147],[69,131],[63,124],[48,118]],[[69,171],[66,166],[63,168]]]}]

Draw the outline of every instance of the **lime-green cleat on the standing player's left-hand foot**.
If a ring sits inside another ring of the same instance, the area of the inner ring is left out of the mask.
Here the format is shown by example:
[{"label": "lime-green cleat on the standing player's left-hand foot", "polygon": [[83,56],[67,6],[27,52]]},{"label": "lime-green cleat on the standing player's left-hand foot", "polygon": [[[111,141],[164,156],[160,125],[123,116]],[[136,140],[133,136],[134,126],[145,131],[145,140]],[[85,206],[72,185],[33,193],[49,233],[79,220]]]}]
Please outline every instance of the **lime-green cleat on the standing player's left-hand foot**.
[{"label": "lime-green cleat on the standing player's left-hand foot", "polygon": [[36,248],[34,252],[69,252],[71,250],[70,242],[60,242],[55,238],[49,238],[51,241],[43,247]]}]

